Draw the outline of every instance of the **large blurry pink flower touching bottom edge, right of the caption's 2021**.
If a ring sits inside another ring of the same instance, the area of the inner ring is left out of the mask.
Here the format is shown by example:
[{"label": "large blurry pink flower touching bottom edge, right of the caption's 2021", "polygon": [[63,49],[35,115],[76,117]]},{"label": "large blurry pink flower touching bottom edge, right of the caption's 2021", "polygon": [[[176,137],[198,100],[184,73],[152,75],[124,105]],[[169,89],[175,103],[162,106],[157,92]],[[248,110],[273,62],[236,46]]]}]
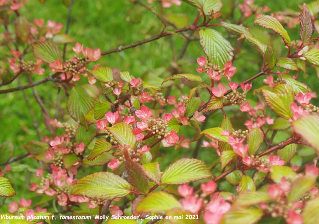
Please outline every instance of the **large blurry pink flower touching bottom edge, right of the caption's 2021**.
[{"label": "large blurry pink flower touching bottom edge, right of the caption's 2021", "polygon": [[204,221],[206,224],[219,224],[222,216],[229,211],[231,205],[225,202],[223,197],[218,196],[206,205]]}]

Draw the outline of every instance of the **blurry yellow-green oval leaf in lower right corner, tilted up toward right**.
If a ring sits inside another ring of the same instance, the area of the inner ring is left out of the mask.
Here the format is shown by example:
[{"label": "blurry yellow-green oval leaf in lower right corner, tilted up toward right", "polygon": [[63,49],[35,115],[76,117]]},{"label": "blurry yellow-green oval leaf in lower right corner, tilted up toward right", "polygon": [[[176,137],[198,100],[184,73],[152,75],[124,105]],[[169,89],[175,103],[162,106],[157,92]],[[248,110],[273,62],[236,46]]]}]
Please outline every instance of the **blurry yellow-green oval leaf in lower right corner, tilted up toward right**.
[{"label": "blurry yellow-green oval leaf in lower right corner, tilted up toward right", "polygon": [[294,181],[289,194],[288,203],[298,202],[316,183],[315,176],[301,176]]}]

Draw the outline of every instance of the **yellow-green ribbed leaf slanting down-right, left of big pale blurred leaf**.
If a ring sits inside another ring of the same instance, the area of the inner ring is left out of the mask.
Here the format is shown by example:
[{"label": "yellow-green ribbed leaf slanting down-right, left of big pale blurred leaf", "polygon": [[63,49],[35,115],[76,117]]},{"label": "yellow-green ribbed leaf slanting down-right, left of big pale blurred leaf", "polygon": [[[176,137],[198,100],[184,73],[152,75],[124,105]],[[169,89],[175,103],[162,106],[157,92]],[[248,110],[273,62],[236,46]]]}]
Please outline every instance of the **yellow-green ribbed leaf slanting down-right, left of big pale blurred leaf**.
[{"label": "yellow-green ribbed leaf slanting down-right, left of big pale blurred leaf", "polygon": [[286,108],[282,99],[274,92],[266,89],[261,90],[266,100],[267,105],[279,116],[289,120],[292,118],[292,112]]}]

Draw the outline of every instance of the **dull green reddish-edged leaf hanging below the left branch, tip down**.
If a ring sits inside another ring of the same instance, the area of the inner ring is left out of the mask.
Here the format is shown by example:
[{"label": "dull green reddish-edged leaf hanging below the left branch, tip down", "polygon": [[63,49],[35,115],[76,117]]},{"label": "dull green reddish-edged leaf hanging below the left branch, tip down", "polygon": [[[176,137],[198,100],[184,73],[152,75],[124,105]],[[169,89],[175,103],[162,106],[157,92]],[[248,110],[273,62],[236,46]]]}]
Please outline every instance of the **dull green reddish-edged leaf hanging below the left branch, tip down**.
[{"label": "dull green reddish-edged leaf hanging below the left branch, tip down", "polygon": [[74,86],[67,102],[67,110],[70,116],[86,129],[89,128],[89,124],[84,116],[92,107],[93,99],[89,96],[87,91],[80,86]]}]

